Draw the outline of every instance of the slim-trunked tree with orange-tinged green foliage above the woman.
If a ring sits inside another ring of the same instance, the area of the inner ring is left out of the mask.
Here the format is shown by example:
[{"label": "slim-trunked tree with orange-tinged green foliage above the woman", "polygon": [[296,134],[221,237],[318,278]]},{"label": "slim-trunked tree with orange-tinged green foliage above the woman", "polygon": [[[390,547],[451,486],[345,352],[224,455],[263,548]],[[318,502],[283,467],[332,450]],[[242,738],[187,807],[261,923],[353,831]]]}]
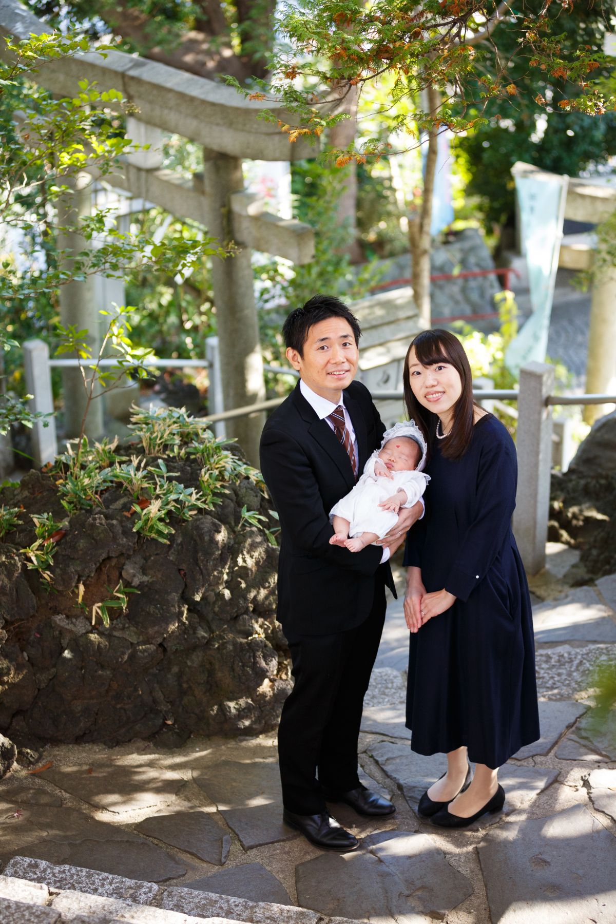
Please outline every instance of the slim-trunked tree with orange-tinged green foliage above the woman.
[{"label": "slim-trunked tree with orange-tinged green foliage above the woman", "polygon": [[[347,95],[385,78],[391,91],[377,114],[380,125],[403,139],[403,148],[428,136],[424,190],[411,215],[409,238],[417,307],[429,322],[429,229],[439,131],[476,129],[486,123],[494,103],[517,100],[525,87],[513,82],[512,58],[529,75],[527,86],[539,104],[549,106],[537,93],[538,82],[549,74],[559,86],[563,112],[599,115],[613,105],[593,77],[605,56],[586,43],[563,46],[561,22],[574,8],[571,0],[544,0],[538,9],[525,3],[519,12],[496,0],[294,0],[281,6],[278,25],[287,45],[273,57],[271,82],[257,81],[251,95],[282,101],[299,116],[299,126],[280,125],[290,141],[319,137],[347,117]],[[504,24],[513,35],[512,55],[501,52]],[[575,94],[560,92],[572,85]],[[275,119],[268,111],[262,117]],[[344,167],[378,159],[391,147],[380,131],[333,153]]]}]

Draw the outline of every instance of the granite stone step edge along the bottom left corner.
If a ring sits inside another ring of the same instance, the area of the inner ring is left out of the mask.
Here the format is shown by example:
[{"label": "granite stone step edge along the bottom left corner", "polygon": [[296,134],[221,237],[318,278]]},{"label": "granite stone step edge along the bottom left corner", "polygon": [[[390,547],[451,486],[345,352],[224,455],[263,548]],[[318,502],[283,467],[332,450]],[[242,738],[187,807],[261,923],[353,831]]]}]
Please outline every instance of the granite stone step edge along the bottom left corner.
[{"label": "granite stone step edge along the bottom left corner", "polygon": [[130,880],[31,857],[8,861],[0,875],[0,899],[0,924],[356,924],[308,908]]}]

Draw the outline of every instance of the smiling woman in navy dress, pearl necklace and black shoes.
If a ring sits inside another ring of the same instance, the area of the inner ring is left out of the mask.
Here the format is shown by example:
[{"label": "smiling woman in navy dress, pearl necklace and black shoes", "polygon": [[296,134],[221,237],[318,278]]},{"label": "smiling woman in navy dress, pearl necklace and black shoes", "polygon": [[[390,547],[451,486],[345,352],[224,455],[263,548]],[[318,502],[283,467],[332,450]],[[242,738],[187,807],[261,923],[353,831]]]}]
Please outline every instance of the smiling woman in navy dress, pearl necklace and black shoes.
[{"label": "smiling woman in navy dress, pearl necklace and black shoes", "polygon": [[[429,444],[427,513],[408,534],[411,631],[406,726],[447,772],[418,811],[464,828],[505,800],[498,768],[539,737],[528,586],[513,539],[517,466],[501,422],[473,402],[463,346],[418,334],[405,360],[405,403]],[[476,763],[469,784],[468,760]]]}]

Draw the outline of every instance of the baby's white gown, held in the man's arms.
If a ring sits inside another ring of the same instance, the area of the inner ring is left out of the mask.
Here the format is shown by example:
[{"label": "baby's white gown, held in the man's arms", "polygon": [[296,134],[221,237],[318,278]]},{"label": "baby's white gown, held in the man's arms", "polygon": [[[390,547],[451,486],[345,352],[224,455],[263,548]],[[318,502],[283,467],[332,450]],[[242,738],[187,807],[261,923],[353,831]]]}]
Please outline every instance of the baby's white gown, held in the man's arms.
[{"label": "baby's white gown, held in the man's arms", "polygon": [[426,490],[429,475],[422,471],[393,471],[393,478],[376,476],[374,474],[375,462],[379,460],[378,451],[369,457],[364,473],[357,481],[355,488],[332,507],[330,522],[333,517],[344,517],[349,520],[349,536],[355,538],[362,532],[376,532],[379,539],[392,529],[398,520],[393,510],[383,510],[382,501],[391,497],[398,488],[404,488],[406,503],[402,506],[412,507]]}]

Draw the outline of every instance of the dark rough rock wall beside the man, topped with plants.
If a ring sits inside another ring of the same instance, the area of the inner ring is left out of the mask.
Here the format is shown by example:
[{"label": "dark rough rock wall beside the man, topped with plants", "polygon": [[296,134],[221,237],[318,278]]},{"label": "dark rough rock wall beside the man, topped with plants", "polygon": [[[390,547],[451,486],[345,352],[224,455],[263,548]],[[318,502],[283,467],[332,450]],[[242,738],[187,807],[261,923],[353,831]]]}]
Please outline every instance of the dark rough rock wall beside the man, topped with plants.
[{"label": "dark rough rock wall beside the man, topped with plants", "polygon": [[[198,483],[194,462],[171,468]],[[242,480],[213,510],[172,519],[169,545],[133,531],[126,492],[102,500],[70,517],[49,586],[19,549],[34,539],[30,513],[66,517],[54,478],[31,471],[0,492],[0,505],[24,508],[24,525],[0,541],[0,731],[28,745],[273,728],[290,689],[275,622],[278,550],[262,530],[239,527],[243,506],[268,512],[258,488]],[[120,579],[139,593],[125,614],[110,610],[109,627],[92,626],[93,603]]]}]

